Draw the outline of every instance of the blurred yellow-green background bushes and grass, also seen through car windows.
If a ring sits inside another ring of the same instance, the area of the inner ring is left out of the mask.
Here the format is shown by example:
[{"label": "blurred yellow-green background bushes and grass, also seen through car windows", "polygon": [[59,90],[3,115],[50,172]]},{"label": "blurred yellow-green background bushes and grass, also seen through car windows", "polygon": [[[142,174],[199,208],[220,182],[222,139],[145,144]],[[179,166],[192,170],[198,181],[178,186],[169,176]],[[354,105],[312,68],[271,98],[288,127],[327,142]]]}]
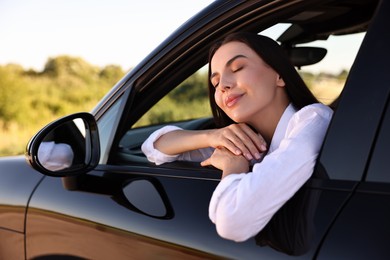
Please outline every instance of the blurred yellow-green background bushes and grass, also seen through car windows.
[{"label": "blurred yellow-green background bushes and grass, also seen through car windows", "polygon": [[[15,64],[0,66],[0,156],[23,154],[30,137],[51,121],[90,111],[124,73],[120,66],[100,68],[70,56],[50,58],[40,72]],[[346,71],[339,75],[300,73],[324,103],[330,103],[340,93],[347,76]],[[206,79],[206,72],[197,72],[137,125],[209,114]],[[186,100],[185,106],[182,100]],[[181,108],[176,109],[179,104]]]}]

